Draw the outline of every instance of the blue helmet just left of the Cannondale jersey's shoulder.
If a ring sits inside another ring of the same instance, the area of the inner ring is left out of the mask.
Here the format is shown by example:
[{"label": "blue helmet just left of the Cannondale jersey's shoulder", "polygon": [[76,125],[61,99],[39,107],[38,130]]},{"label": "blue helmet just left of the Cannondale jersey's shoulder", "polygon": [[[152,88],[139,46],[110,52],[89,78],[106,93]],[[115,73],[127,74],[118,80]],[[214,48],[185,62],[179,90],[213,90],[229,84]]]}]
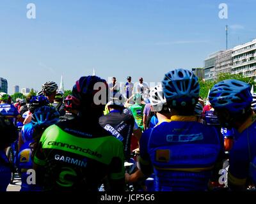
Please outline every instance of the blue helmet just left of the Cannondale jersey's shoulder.
[{"label": "blue helmet just left of the Cannondale jersey's shoulder", "polygon": [[52,124],[56,124],[60,119],[60,113],[50,106],[42,106],[36,108],[35,112],[32,115],[32,125],[33,127],[47,128]]}]

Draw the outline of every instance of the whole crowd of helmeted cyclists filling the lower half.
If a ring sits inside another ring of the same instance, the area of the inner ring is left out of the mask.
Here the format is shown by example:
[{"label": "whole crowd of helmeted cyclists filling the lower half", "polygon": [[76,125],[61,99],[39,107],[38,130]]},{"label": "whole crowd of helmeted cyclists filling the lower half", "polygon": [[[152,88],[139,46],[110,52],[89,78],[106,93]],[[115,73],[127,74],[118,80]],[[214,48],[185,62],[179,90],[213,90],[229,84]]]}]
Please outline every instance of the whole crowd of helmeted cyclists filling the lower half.
[{"label": "whole crowd of helmeted cyclists filling the lower half", "polygon": [[[46,82],[26,101],[0,93],[0,191],[10,184],[6,149],[19,140],[20,191],[227,191],[255,189],[256,96],[250,85],[230,79],[200,98],[193,72],[175,69],[148,88],[127,77],[122,94],[97,76],[81,77],[63,98]],[[99,99],[106,98],[104,103]],[[19,128],[21,130],[19,130]],[[136,152],[136,157],[132,154]],[[125,173],[125,163],[137,167]],[[220,170],[228,161],[227,185]],[[36,182],[28,182],[28,170]],[[31,171],[29,171],[31,172]],[[154,187],[147,186],[147,178]]]}]

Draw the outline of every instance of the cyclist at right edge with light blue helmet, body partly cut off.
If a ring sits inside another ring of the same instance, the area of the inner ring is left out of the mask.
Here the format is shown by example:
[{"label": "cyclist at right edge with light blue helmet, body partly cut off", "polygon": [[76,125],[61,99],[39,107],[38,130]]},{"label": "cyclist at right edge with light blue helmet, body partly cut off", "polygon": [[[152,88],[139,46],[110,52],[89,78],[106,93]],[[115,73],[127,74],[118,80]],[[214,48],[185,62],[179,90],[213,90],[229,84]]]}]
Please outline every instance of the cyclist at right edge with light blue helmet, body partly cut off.
[{"label": "cyclist at right edge with light blue helmet, body partly cut off", "polygon": [[256,184],[256,122],[251,108],[250,85],[224,80],[212,87],[209,100],[224,128],[235,128],[236,141],[230,150],[228,187],[244,190]]}]

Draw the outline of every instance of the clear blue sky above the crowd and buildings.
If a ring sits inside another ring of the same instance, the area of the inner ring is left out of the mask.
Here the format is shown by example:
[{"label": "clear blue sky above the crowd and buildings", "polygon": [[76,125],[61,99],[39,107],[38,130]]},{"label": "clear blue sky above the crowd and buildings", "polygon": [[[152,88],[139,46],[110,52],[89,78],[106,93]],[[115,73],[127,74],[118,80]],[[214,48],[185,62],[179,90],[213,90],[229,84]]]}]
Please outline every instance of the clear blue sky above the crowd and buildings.
[{"label": "clear blue sky above the crowd and buildings", "polygon": [[[36,19],[28,19],[28,3]],[[220,3],[228,19],[220,19]],[[71,89],[93,68],[102,78],[160,82],[175,68],[204,66],[207,55],[256,38],[254,0],[1,0],[0,77],[39,90]]]}]

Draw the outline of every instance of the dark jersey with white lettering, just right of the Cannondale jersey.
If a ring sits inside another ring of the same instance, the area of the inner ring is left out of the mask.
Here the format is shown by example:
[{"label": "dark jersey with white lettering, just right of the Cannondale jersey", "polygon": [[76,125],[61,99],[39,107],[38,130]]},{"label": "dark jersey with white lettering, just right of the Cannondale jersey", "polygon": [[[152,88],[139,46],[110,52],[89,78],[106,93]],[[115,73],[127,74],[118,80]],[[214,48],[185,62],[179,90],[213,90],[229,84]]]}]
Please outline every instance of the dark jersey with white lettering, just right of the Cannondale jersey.
[{"label": "dark jersey with white lettering, just right of the Cannondale jersey", "polygon": [[125,108],[123,112],[113,110],[99,119],[99,124],[111,135],[124,144],[124,155],[127,161],[131,157],[131,136],[134,127],[134,117],[131,110]]}]

